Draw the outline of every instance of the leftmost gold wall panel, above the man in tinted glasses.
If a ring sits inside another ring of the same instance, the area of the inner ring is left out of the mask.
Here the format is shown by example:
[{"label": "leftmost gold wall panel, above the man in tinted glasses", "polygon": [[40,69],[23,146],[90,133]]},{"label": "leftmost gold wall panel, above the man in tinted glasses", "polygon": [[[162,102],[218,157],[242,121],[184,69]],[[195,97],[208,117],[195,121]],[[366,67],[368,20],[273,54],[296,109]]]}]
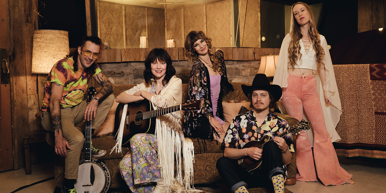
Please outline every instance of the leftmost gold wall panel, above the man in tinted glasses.
[{"label": "leftmost gold wall panel, above the man in tinted glasses", "polygon": [[124,47],[123,8],[120,4],[100,1],[100,38],[113,49]]}]

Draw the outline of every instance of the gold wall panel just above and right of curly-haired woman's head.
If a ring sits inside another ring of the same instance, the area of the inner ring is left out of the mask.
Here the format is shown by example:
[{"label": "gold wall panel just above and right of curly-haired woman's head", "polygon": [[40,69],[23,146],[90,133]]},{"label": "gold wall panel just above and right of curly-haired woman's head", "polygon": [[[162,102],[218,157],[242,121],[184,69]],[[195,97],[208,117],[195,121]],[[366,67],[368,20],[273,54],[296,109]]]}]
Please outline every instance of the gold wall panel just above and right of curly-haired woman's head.
[{"label": "gold wall panel just above and right of curly-haired woman's head", "polygon": [[230,2],[222,1],[206,5],[207,36],[212,38],[213,47],[231,47]]}]

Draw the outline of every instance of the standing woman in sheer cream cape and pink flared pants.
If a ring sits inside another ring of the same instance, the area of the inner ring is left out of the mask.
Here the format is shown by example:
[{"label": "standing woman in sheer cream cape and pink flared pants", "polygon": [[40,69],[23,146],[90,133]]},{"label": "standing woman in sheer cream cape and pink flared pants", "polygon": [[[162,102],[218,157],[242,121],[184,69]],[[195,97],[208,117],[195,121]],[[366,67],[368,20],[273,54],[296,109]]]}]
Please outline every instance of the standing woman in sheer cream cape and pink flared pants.
[{"label": "standing woman in sheer cream cape and pink flared pants", "polygon": [[301,120],[304,108],[313,127],[313,151],[306,133],[301,132],[296,138],[296,178],[319,179],[325,186],[354,184],[351,174],[340,167],[331,142],[340,140],[335,127],[342,108],[326,39],[317,31],[306,3],[293,4],[292,14],[273,84],[283,89],[282,102],[288,115]]}]

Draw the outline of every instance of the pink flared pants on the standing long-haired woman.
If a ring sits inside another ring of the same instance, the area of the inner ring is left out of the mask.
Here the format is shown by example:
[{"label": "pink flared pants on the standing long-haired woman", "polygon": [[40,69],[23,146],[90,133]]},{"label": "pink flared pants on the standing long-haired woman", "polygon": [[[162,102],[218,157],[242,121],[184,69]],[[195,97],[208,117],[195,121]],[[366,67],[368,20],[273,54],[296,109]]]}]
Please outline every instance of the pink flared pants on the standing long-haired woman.
[{"label": "pink flared pants on the standing long-haired woman", "polygon": [[314,132],[313,155],[307,134],[301,132],[296,138],[296,167],[299,172],[296,179],[318,181],[319,178],[325,186],[346,183],[351,174],[339,165],[326,129],[315,75],[301,77],[289,74],[287,82],[287,88],[283,88],[282,101],[288,115],[301,120],[304,108]]}]

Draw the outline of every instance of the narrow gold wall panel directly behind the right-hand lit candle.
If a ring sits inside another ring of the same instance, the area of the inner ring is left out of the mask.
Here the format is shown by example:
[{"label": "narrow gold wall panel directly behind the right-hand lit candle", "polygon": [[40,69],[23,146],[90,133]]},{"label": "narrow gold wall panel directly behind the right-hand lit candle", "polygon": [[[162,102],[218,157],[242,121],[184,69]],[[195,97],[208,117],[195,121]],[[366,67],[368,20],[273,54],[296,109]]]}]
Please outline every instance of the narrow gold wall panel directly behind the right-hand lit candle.
[{"label": "narrow gold wall panel directly behind the right-hand lit candle", "polygon": [[172,9],[166,11],[166,39],[174,39],[176,47],[184,47],[184,10]]}]

